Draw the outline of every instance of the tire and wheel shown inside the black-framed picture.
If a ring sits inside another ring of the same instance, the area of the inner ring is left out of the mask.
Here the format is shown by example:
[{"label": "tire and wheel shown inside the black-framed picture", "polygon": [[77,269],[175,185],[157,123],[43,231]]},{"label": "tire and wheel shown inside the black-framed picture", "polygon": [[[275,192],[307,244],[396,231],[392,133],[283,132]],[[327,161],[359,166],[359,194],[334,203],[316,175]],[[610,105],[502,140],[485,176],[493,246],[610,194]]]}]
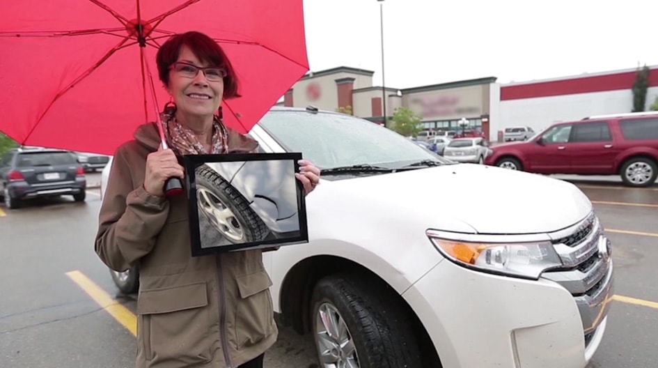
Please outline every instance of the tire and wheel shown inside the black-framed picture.
[{"label": "tire and wheel shown inside the black-framed picture", "polygon": [[[269,227],[251,209],[242,194],[207,165],[196,168],[196,197],[200,212],[231,243],[256,242],[265,239],[269,234]],[[205,203],[209,202],[209,197],[212,197],[213,203]],[[221,206],[221,209],[230,210],[232,216],[228,217],[227,224],[221,224],[216,217],[204,210],[210,206]]]}]

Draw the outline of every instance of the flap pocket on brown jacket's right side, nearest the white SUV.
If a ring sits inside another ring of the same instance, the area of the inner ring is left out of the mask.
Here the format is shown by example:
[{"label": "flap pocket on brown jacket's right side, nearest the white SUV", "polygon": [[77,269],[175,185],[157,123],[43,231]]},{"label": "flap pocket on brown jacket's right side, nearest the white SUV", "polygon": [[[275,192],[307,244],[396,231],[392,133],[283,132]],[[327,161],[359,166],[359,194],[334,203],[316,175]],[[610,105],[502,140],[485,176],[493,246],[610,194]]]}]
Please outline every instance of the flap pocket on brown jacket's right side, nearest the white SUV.
[{"label": "flap pocket on brown jacket's right side, nearest the white SUV", "polygon": [[274,330],[274,310],[265,270],[236,277],[240,300],[235,309],[235,337],[238,350],[257,344]]}]

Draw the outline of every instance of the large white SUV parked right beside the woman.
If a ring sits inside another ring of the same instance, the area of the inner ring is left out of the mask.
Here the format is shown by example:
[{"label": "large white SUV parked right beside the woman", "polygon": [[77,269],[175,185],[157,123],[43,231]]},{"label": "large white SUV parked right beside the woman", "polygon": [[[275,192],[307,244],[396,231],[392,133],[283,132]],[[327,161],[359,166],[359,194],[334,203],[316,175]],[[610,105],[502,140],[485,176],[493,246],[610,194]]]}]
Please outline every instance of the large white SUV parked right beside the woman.
[{"label": "large white SUV parked right beside the woman", "polygon": [[[325,366],[588,365],[606,330],[613,263],[575,185],[446,160],[315,109],[274,107],[249,135],[263,152],[301,152],[322,169],[306,198],[309,243],[263,263],[279,323],[308,333]],[[451,195],[428,196],[437,188]],[[121,290],[137,291],[139,264],[116,271]]]}]

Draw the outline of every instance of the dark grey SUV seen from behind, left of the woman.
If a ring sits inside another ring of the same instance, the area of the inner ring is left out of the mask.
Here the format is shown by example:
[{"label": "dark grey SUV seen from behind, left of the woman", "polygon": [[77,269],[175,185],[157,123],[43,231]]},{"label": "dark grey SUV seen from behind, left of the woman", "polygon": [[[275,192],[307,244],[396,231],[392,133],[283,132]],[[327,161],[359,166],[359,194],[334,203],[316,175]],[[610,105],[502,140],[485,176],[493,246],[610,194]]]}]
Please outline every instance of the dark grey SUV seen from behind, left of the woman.
[{"label": "dark grey SUV seen from behind, left of the woman", "polygon": [[13,148],[0,158],[0,194],[6,208],[28,199],[72,195],[86,197],[84,169],[75,153],[51,148]]}]

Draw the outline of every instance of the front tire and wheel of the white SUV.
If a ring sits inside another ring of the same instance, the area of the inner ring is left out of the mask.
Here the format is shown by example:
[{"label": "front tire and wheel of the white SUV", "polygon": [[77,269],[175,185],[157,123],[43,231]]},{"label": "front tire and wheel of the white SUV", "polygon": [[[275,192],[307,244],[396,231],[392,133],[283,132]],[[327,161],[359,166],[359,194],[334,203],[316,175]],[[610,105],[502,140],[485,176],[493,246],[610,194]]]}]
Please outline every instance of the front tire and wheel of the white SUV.
[{"label": "front tire and wheel of the white SUV", "polygon": [[[320,362],[334,360],[329,367],[343,367],[340,362],[351,358],[360,368],[423,366],[409,312],[395,291],[375,284],[365,273],[347,272],[325,277],[315,286],[311,325]],[[329,314],[333,318],[327,318]],[[338,326],[343,334],[331,337],[324,323]],[[353,348],[344,351],[345,346]]]}]

